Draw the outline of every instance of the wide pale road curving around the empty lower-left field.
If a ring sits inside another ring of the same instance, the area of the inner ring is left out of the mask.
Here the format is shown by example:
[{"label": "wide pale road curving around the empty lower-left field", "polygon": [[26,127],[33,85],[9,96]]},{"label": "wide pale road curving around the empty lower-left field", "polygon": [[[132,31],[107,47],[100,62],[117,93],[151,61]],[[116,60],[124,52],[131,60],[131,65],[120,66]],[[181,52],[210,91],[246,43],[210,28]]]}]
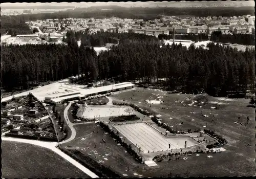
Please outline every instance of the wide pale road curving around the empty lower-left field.
[{"label": "wide pale road curving around the empty lower-left field", "polygon": [[9,138],[9,137],[2,137],[2,140],[3,141],[13,141],[13,142],[23,142],[23,143],[28,143],[28,144],[33,144],[33,145],[38,145],[40,147],[48,148],[48,149],[54,151],[55,153],[59,154],[60,156],[62,156],[62,158],[69,161],[71,164],[73,164],[74,166],[76,166],[77,168],[82,170],[84,173],[88,174],[90,177],[92,177],[92,178],[98,178],[99,177],[95,173],[91,172],[88,168],[82,166],[77,161],[72,159],[69,155],[62,152],[58,148],[56,148],[56,146],[58,145],[57,142],[42,142],[42,141],[36,141],[36,140],[17,139],[17,138]]}]

